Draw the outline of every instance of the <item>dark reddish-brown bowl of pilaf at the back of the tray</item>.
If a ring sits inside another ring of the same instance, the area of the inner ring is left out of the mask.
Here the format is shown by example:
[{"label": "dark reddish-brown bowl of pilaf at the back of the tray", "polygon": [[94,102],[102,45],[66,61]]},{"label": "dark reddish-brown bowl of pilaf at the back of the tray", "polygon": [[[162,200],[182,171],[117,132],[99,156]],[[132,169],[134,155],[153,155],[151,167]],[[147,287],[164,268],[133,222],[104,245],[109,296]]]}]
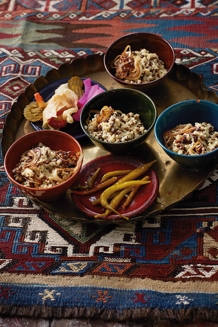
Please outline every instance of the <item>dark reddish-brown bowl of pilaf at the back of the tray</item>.
[{"label": "dark reddish-brown bowl of pilaf at the back of the tray", "polygon": [[[121,55],[127,45],[131,46],[132,51],[145,48],[151,53],[156,53],[159,59],[164,62],[164,67],[167,69],[167,73],[154,81],[141,84],[131,84],[128,82],[121,81],[120,79],[115,77],[115,69],[111,68],[111,63],[118,55]],[[136,89],[142,92],[154,90],[157,85],[162,83],[162,81],[167,77],[167,75],[173,68],[174,61],[175,54],[171,44],[161,36],[154,33],[131,33],[124,35],[115,42],[113,42],[108,47],[104,55],[104,66],[107,72],[110,74],[111,77],[113,77],[114,80],[116,80],[116,82],[118,82],[122,86],[131,89]]]}]

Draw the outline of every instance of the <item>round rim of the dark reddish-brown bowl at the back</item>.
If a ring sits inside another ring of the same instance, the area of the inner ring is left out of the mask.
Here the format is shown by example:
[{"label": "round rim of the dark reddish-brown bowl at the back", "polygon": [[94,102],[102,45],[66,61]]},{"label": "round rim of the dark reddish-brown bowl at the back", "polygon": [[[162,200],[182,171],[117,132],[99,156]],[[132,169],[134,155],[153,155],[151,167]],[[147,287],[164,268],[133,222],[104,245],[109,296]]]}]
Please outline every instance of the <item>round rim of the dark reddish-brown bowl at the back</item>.
[{"label": "round rim of the dark reddish-brown bowl at the back", "polygon": [[[163,40],[168,46],[169,46],[169,48],[172,50],[172,53],[173,53],[173,62],[172,62],[172,64],[171,64],[171,67],[169,68],[169,70],[162,76],[162,77],[159,77],[159,78],[157,78],[157,79],[155,79],[155,80],[153,80],[153,81],[150,81],[150,82],[147,82],[147,83],[140,83],[140,84],[137,84],[137,83],[128,83],[128,82],[124,82],[124,81],[122,81],[121,79],[119,79],[119,78],[117,78],[117,77],[115,77],[115,75],[113,75],[113,74],[111,74],[111,72],[109,71],[109,69],[107,68],[107,63],[106,63],[106,56],[107,56],[107,53],[108,53],[108,51],[116,44],[116,43],[118,43],[120,40],[122,40],[124,37],[128,37],[128,36],[130,36],[130,35],[154,35],[154,36],[156,36],[156,37],[159,37],[161,40]],[[112,77],[112,78],[114,78],[118,83],[121,83],[121,84],[123,84],[123,85],[133,85],[134,87],[136,86],[138,86],[138,87],[142,87],[142,86],[146,86],[146,85],[149,85],[149,86],[151,86],[151,85],[153,85],[155,82],[157,82],[157,81],[161,81],[161,79],[163,79],[164,77],[166,77],[169,73],[170,73],[170,71],[172,70],[172,68],[173,68],[173,66],[174,66],[174,64],[175,64],[175,52],[174,52],[174,49],[173,49],[173,47],[172,47],[172,45],[166,40],[166,39],[164,39],[162,36],[160,36],[159,34],[155,34],[155,33],[149,33],[149,32],[134,32],[134,33],[129,33],[129,34],[126,34],[126,35],[123,35],[123,36],[121,36],[120,38],[118,38],[117,40],[115,40],[113,43],[111,43],[110,45],[109,45],[109,47],[107,48],[107,50],[106,50],[106,52],[105,52],[105,54],[104,54],[104,67],[105,67],[105,69],[106,69],[106,71],[108,72],[108,74]]]}]

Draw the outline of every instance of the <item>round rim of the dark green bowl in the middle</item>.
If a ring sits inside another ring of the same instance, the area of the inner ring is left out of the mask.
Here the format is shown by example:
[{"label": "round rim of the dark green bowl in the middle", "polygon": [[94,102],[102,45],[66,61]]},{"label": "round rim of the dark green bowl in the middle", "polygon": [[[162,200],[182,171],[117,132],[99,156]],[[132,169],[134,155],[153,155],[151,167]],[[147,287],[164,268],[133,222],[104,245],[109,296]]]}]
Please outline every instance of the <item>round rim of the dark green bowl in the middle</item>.
[{"label": "round rim of the dark green bowl in the middle", "polygon": [[[136,140],[138,140],[138,139],[142,138],[143,136],[145,136],[145,134],[148,134],[148,133],[153,129],[154,124],[155,124],[155,122],[156,122],[156,120],[157,120],[157,108],[156,108],[156,106],[155,106],[155,104],[154,104],[154,101],[153,101],[153,100],[152,100],[152,99],[151,99],[147,94],[145,94],[145,93],[143,93],[143,92],[141,92],[141,91],[139,91],[139,90],[128,89],[128,88],[122,87],[122,88],[117,88],[117,89],[112,89],[112,90],[104,91],[103,94],[105,94],[105,93],[109,93],[109,92],[113,92],[113,91],[115,91],[115,90],[125,90],[125,91],[127,91],[127,92],[134,91],[134,92],[137,92],[137,93],[141,93],[142,95],[144,95],[145,97],[147,97],[148,100],[151,101],[151,103],[153,104],[153,107],[154,107],[155,116],[154,116],[153,123],[152,123],[152,125],[149,127],[149,129],[147,129],[147,131],[146,131],[144,134],[140,135],[139,137],[137,137],[137,138],[135,138],[135,139],[133,139],[133,140],[128,140],[128,141],[124,141],[124,142],[122,142],[122,143],[125,143],[125,144],[127,144],[127,142],[128,142],[128,144],[130,144],[130,142],[135,142]],[[115,91],[115,92],[116,92],[116,91]],[[82,109],[82,112],[83,112],[84,109],[89,105],[89,102],[93,101],[95,98],[100,97],[100,96],[101,96],[101,93],[98,94],[98,95],[96,95],[96,96],[94,96],[93,98],[91,98],[91,99],[90,99],[90,100],[89,100],[89,101],[84,105],[84,107],[83,107],[83,109]],[[84,133],[85,133],[89,138],[91,138],[91,139],[94,140],[95,142],[99,142],[99,143],[101,143],[101,144],[114,144],[114,146],[120,146],[120,143],[118,143],[118,142],[105,142],[105,141],[97,140],[97,139],[95,139],[91,134],[89,134],[89,133],[87,132],[87,130],[83,127],[83,124],[82,124],[82,119],[81,119],[81,117],[82,117],[82,112],[81,112],[81,115],[80,115],[80,125],[81,125],[82,130],[84,131]]]}]

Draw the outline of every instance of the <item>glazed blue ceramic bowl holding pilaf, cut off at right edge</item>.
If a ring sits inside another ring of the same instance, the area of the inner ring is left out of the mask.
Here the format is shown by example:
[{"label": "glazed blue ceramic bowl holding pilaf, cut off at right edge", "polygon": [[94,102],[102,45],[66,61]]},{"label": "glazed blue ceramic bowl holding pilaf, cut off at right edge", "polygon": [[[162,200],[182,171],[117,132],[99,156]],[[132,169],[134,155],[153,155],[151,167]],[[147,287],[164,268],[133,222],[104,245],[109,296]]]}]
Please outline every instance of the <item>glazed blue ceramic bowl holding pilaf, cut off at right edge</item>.
[{"label": "glazed blue ceramic bowl holding pilaf, cut off at right edge", "polygon": [[182,167],[191,171],[201,171],[208,168],[218,158],[218,148],[205,154],[189,156],[177,154],[164,146],[163,134],[180,124],[196,122],[210,123],[214,131],[218,131],[218,105],[204,100],[188,100],[174,104],[160,114],[154,126],[157,142],[170,158]]}]

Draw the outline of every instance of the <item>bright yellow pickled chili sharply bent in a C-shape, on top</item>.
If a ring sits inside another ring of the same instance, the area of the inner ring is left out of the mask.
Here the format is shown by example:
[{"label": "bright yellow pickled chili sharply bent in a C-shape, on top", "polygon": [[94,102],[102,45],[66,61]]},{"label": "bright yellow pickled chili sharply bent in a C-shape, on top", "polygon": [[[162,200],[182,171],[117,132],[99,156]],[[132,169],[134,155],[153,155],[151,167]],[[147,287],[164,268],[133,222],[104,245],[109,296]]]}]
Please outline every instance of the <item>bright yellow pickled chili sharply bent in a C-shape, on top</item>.
[{"label": "bright yellow pickled chili sharply bent in a C-shape, on top", "polygon": [[[121,215],[117,212],[117,210],[115,210],[114,208],[112,208],[109,203],[107,202],[107,199],[116,191],[118,190],[122,190],[125,187],[128,186],[135,186],[135,185],[143,185],[146,184],[148,181],[126,181],[120,184],[114,184],[110,187],[108,187],[106,190],[104,190],[101,195],[100,195],[100,203],[102,205],[102,207],[104,207],[105,209],[111,209],[112,211],[114,211],[117,215],[120,215],[122,218],[124,219],[129,219],[128,217],[125,217],[124,215]],[[96,216],[95,216],[96,218]]]}]

